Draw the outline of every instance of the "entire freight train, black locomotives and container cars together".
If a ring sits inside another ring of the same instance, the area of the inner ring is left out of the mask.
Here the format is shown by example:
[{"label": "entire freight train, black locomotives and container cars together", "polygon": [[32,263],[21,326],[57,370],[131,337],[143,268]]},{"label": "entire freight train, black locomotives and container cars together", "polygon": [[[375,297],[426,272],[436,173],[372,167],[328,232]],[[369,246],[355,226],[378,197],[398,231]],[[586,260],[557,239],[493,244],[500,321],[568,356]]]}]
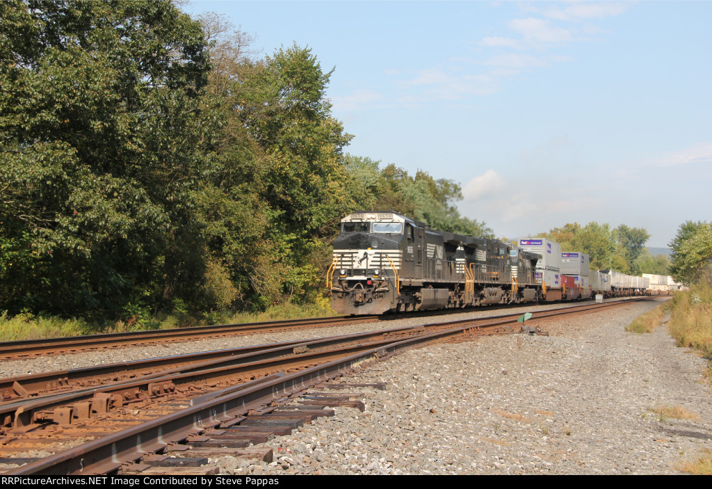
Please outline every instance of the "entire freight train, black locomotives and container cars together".
[{"label": "entire freight train, black locomotives and container cars together", "polygon": [[590,270],[545,238],[504,243],[435,231],[388,211],[341,220],[327,288],[336,312],[385,312],[644,295],[648,279]]}]

